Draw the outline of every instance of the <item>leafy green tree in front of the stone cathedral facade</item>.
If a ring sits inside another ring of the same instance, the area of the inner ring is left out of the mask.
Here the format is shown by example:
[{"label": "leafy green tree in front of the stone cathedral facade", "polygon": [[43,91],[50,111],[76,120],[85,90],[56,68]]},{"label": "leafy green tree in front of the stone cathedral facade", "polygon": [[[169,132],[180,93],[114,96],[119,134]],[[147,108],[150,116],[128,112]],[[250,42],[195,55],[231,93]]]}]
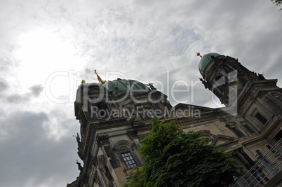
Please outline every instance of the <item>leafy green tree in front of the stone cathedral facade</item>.
[{"label": "leafy green tree in front of the stone cathedral facade", "polygon": [[229,186],[241,167],[231,153],[200,135],[153,118],[151,133],[140,142],[145,164],[131,172],[125,186]]}]

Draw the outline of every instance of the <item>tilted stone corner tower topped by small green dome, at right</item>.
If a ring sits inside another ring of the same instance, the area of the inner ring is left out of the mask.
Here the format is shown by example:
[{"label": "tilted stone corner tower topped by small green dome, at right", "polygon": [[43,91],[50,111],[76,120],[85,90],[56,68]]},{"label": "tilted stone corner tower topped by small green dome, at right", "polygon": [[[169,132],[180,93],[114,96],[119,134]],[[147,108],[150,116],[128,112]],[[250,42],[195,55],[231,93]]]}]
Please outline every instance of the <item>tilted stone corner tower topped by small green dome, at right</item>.
[{"label": "tilted stone corner tower topped by small green dome, at right", "polygon": [[[281,89],[276,86],[277,79],[267,80],[262,74],[243,67],[238,59],[217,53],[203,55],[199,71],[205,88],[222,104],[236,109],[257,133],[268,126],[279,132],[282,96]],[[268,139],[274,139],[274,135]]]}]

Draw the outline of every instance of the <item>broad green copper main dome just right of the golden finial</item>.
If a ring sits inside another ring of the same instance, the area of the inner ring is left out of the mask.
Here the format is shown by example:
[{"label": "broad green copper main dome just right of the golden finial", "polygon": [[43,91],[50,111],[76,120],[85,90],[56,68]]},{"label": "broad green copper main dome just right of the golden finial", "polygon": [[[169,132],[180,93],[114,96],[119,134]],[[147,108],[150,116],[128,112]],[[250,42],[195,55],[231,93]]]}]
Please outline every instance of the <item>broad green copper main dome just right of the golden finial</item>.
[{"label": "broad green copper main dome just right of the golden finial", "polygon": [[118,78],[114,81],[107,81],[105,84],[103,84],[103,86],[112,92],[122,92],[126,90],[144,90],[149,92],[150,90],[147,85],[140,83],[139,81],[121,78]]}]

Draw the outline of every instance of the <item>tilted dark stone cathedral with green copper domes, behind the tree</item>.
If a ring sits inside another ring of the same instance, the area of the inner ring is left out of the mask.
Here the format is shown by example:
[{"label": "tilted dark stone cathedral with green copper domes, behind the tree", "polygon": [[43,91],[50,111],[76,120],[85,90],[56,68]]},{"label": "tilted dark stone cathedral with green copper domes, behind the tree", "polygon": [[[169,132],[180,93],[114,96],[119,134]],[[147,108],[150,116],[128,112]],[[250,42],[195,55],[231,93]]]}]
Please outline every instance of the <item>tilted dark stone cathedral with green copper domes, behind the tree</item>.
[{"label": "tilted dark stone cathedral with green copper domes, behind the tree", "polygon": [[[74,109],[80,123],[76,141],[83,166],[76,162],[80,174],[67,186],[123,186],[133,167],[144,162],[137,150],[152,128],[152,118],[167,123],[175,120],[185,132],[201,131],[203,137],[213,138],[212,144],[234,152],[243,174],[257,167],[257,155],[274,152],[273,146],[282,138],[282,94],[277,80],[268,80],[237,59],[217,53],[201,56],[199,71],[203,86],[225,107],[181,103],[172,107],[167,96],[150,83],[120,78],[102,81],[96,72],[99,83],[82,81]],[[271,158],[276,163],[281,162],[277,153]],[[275,169],[281,174],[279,165]],[[260,183],[275,174],[262,174]]]}]

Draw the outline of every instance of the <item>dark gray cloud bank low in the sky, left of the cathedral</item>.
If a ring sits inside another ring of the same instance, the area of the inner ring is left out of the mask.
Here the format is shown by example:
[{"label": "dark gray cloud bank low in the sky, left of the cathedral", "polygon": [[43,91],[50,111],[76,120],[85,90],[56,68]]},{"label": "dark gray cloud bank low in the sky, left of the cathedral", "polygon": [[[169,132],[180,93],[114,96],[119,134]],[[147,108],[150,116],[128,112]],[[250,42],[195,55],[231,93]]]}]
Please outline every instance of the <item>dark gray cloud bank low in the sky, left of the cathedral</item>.
[{"label": "dark gray cloud bank low in the sky, left of the cathedral", "polygon": [[48,137],[48,123],[48,113],[27,111],[11,113],[1,121],[2,186],[64,186],[75,179],[75,139],[72,134],[59,141]]}]

